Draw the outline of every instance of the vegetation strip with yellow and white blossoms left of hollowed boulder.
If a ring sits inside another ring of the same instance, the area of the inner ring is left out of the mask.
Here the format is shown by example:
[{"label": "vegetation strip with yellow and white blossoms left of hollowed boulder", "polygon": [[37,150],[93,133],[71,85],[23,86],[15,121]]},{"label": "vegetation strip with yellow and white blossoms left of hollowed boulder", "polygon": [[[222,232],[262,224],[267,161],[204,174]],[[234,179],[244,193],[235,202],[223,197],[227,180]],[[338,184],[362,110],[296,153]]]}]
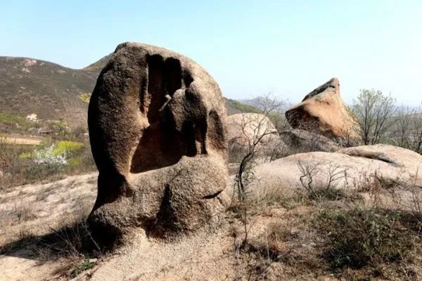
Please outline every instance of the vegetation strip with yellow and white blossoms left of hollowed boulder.
[{"label": "vegetation strip with yellow and white blossoms left of hollowed boulder", "polygon": [[45,139],[41,145],[17,145],[0,137],[0,190],[94,170],[87,140]]}]

